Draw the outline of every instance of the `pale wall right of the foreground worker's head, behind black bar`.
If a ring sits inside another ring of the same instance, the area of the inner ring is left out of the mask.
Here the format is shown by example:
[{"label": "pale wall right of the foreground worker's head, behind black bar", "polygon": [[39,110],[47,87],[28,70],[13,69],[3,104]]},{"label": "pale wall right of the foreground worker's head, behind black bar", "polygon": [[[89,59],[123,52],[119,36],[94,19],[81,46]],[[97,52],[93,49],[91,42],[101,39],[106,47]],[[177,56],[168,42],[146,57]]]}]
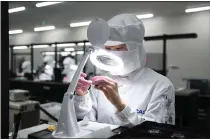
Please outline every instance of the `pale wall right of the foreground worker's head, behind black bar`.
[{"label": "pale wall right of the foreground worker's head, behind black bar", "polygon": [[[198,34],[197,39],[167,42],[168,65],[180,67],[170,74],[176,86],[184,86],[182,77],[210,78],[209,16],[209,11],[206,11],[144,21],[146,36],[163,33]],[[149,42],[145,44],[145,48],[147,52],[161,52],[161,45],[162,42]]]}]

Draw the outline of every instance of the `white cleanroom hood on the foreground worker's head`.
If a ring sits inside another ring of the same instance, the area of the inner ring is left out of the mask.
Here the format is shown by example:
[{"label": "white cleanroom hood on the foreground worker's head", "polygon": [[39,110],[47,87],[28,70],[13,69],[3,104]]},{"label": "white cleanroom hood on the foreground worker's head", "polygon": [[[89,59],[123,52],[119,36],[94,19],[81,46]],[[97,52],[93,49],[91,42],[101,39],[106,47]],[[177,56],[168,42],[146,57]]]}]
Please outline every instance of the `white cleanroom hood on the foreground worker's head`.
[{"label": "white cleanroom hood on the foreground worker's head", "polygon": [[[117,44],[126,44],[130,57],[126,57],[128,59],[125,65],[135,65],[135,67],[132,68],[128,66],[125,67],[130,68],[130,72],[125,72],[124,75],[129,75],[135,70],[143,69],[146,65],[146,52],[143,47],[145,28],[141,20],[132,14],[120,14],[108,20],[108,25],[110,27],[110,38],[105,45],[114,46]],[[116,54],[118,52],[114,53]],[[132,64],[130,62],[132,62]]]}]

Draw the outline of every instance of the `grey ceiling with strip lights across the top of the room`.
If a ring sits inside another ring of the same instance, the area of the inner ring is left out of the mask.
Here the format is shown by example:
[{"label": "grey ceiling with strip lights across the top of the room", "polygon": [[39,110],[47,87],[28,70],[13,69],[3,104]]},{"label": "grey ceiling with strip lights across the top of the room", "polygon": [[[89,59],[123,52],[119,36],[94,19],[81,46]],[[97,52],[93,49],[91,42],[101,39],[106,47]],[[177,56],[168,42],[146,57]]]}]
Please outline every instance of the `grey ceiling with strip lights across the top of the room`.
[{"label": "grey ceiling with strip lights across the top of the room", "polygon": [[37,2],[9,2],[9,8],[25,6],[26,10],[9,15],[10,29],[33,30],[35,26],[55,25],[69,27],[70,22],[91,20],[94,17],[109,19],[120,13],[174,16],[186,14],[185,9],[210,5],[210,2],[64,2],[46,7],[35,7]]}]

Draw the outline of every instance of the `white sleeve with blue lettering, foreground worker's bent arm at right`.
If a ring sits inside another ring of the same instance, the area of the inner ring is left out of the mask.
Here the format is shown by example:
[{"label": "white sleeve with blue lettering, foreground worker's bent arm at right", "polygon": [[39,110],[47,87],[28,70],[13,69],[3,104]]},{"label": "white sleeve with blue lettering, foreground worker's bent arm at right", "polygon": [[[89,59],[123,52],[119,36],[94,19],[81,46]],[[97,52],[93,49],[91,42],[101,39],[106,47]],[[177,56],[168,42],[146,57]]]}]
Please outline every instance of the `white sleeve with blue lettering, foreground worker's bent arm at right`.
[{"label": "white sleeve with blue lettering, foreground worker's bent arm at right", "polygon": [[146,111],[141,113],[142,115],[128,105],[116,115],[120,125],[127,127],[138,125],[144,121],[175,124],[174,100],[174,88],[169,86],[162,91],[153,93],[149,105]]}]

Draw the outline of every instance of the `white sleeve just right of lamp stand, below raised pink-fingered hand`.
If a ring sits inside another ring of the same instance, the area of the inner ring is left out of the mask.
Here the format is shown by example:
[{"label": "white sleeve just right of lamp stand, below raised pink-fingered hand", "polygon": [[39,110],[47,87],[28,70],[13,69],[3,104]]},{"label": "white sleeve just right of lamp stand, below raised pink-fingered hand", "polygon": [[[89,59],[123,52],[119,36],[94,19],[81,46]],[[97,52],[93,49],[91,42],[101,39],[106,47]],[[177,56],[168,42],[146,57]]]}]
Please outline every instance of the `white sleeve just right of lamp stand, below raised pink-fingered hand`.
[{"label": "white sleeve just right of lamp stand, below raised pink-fingered hand", "polygon": [[87,116],[89,120],[96,121],[97,100],[92,89],[83,96],[75,95],[74,107],[77,119]]}]

